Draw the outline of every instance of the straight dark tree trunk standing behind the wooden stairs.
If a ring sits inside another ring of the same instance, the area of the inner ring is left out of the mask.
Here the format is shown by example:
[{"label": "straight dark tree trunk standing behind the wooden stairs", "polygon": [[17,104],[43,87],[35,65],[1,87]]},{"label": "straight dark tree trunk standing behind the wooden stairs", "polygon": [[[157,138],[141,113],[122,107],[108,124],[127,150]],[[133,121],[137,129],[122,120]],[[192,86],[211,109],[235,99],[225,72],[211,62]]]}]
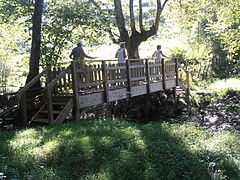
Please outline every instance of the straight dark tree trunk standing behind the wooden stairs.
[{"label": "straight dark tree trunk standing behind the wooden stairs", "polygon": [[[31,56],[29,62],[29,74],[27,76],[26,84],[39,74],[42,11],[43,0],[35,0],[32,27]],[[37,87],[40,87],[40,81],[34,85],[34,88]]]}]

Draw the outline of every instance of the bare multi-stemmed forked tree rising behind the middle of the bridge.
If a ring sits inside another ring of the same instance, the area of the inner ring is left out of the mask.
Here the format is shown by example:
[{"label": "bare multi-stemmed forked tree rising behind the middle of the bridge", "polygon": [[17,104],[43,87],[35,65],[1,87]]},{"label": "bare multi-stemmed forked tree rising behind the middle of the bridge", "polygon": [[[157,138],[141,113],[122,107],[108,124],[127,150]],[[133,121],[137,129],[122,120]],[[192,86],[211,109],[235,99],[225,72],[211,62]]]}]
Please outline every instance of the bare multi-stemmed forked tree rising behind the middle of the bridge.
[{"label": "bare multi-stemmed forked tree rising behind the middle of the bridge", "polygon": [[112,39],[115,43],[119,41],[126,42],[126,48],[127,48],[129,59],[139,58],[139,53],[138,53],[139,45],[143,41],[146,41],[149,37],[157,34],[159,24],[160,24],[160,16],[167,2],[168,0],[164,0],[163,3],[161,3],[161,0],[156,1],[157,6],[156,6],[156,13],[155,13],[155,21],[152,23],[151,27],[148,30],[146,30],[143,24],[142,0],[139,0],[138,28],[136,25],[136,18],[134,15],[134,0],[130,0],[129,1],[130,27],[128,30],[128,28],[126,27],[126,22],[125,22],[123,10],[122,10],[121,0],[114,0],[116,25],[118,27],[120,37],[117,40],[115,39],[115,37],[112,36]]}]

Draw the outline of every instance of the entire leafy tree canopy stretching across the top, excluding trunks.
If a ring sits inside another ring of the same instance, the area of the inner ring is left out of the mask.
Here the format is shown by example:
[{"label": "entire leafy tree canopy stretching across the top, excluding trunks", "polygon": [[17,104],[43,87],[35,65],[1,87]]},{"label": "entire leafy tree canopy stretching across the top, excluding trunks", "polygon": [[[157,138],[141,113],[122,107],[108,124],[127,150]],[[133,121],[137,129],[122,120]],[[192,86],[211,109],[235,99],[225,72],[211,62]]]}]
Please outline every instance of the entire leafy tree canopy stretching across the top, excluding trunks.
[{"label": "entire leafy tree canopy stretching across the top, excluding trunks", "polygon": [[[11,68],[7,64],[12,62],[26,74],[36,2],[0,0],[2,74],[8,74]],[[155,37],[159,27],[158,39],[169,38],[168,31],[176,37],[184,35],[195,58],[218,57],[239,64],[239,7],[237,0],[45,0],[40,61],[36,65],[46,67],[66,60],[77,39],[88,45],[126,41],[129,58],[138,58],[139,45]],[[164,29],[166,22],[171,24],[169,29]],[[176,33],[177,28],[181,31]]]}]

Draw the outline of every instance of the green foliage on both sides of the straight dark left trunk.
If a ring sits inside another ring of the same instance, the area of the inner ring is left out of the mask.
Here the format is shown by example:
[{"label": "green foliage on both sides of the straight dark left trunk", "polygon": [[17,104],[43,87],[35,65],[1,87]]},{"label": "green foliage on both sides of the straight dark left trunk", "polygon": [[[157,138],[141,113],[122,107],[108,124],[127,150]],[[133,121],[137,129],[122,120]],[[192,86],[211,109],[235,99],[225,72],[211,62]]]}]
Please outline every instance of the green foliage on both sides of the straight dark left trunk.
[{"label": "green foliage on both sides of the straight dark left trunk", "polygon": [[[56,63],[63,59],[68,61],[66,57],[73,46],[72,42],[75,44],[77,39],[84,39],[86,44],[104,41],[104,32],[109,30],[110,21],[107,10],[101,9],[105,7],[103,3],[55,0],[44,2],[40,61],[43,68],[47,63]],[[0,84],[22,86],[29,64],[34,1],[0,0],[0,9],[1,72],[4,68]],[[11,72],[9,76],[5,73],[7,71]],[[19,75],[20,72],[22,73]]]}]

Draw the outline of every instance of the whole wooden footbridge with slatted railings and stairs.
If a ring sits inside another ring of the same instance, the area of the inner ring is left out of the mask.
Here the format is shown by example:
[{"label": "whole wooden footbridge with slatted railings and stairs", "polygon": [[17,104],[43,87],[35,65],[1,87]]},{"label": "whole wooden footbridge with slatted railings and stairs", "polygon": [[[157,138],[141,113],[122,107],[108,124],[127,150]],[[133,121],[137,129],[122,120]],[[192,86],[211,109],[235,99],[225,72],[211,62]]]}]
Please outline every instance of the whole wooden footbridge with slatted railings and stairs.
[{"label": "whole wooden footbridge with slatted railings and stairs", "polygon": [[[82,108],[166,89],[176,95],[180,85],[177,59],[161,63],[152,59],[126,60],[124,64],[116,60],[85,63],[84,67],[75,62],[48,66],[15,94],[25,125],[59,124],[71,112],[80,119]],[[42,88],[32,90],[39,81]]]}]

